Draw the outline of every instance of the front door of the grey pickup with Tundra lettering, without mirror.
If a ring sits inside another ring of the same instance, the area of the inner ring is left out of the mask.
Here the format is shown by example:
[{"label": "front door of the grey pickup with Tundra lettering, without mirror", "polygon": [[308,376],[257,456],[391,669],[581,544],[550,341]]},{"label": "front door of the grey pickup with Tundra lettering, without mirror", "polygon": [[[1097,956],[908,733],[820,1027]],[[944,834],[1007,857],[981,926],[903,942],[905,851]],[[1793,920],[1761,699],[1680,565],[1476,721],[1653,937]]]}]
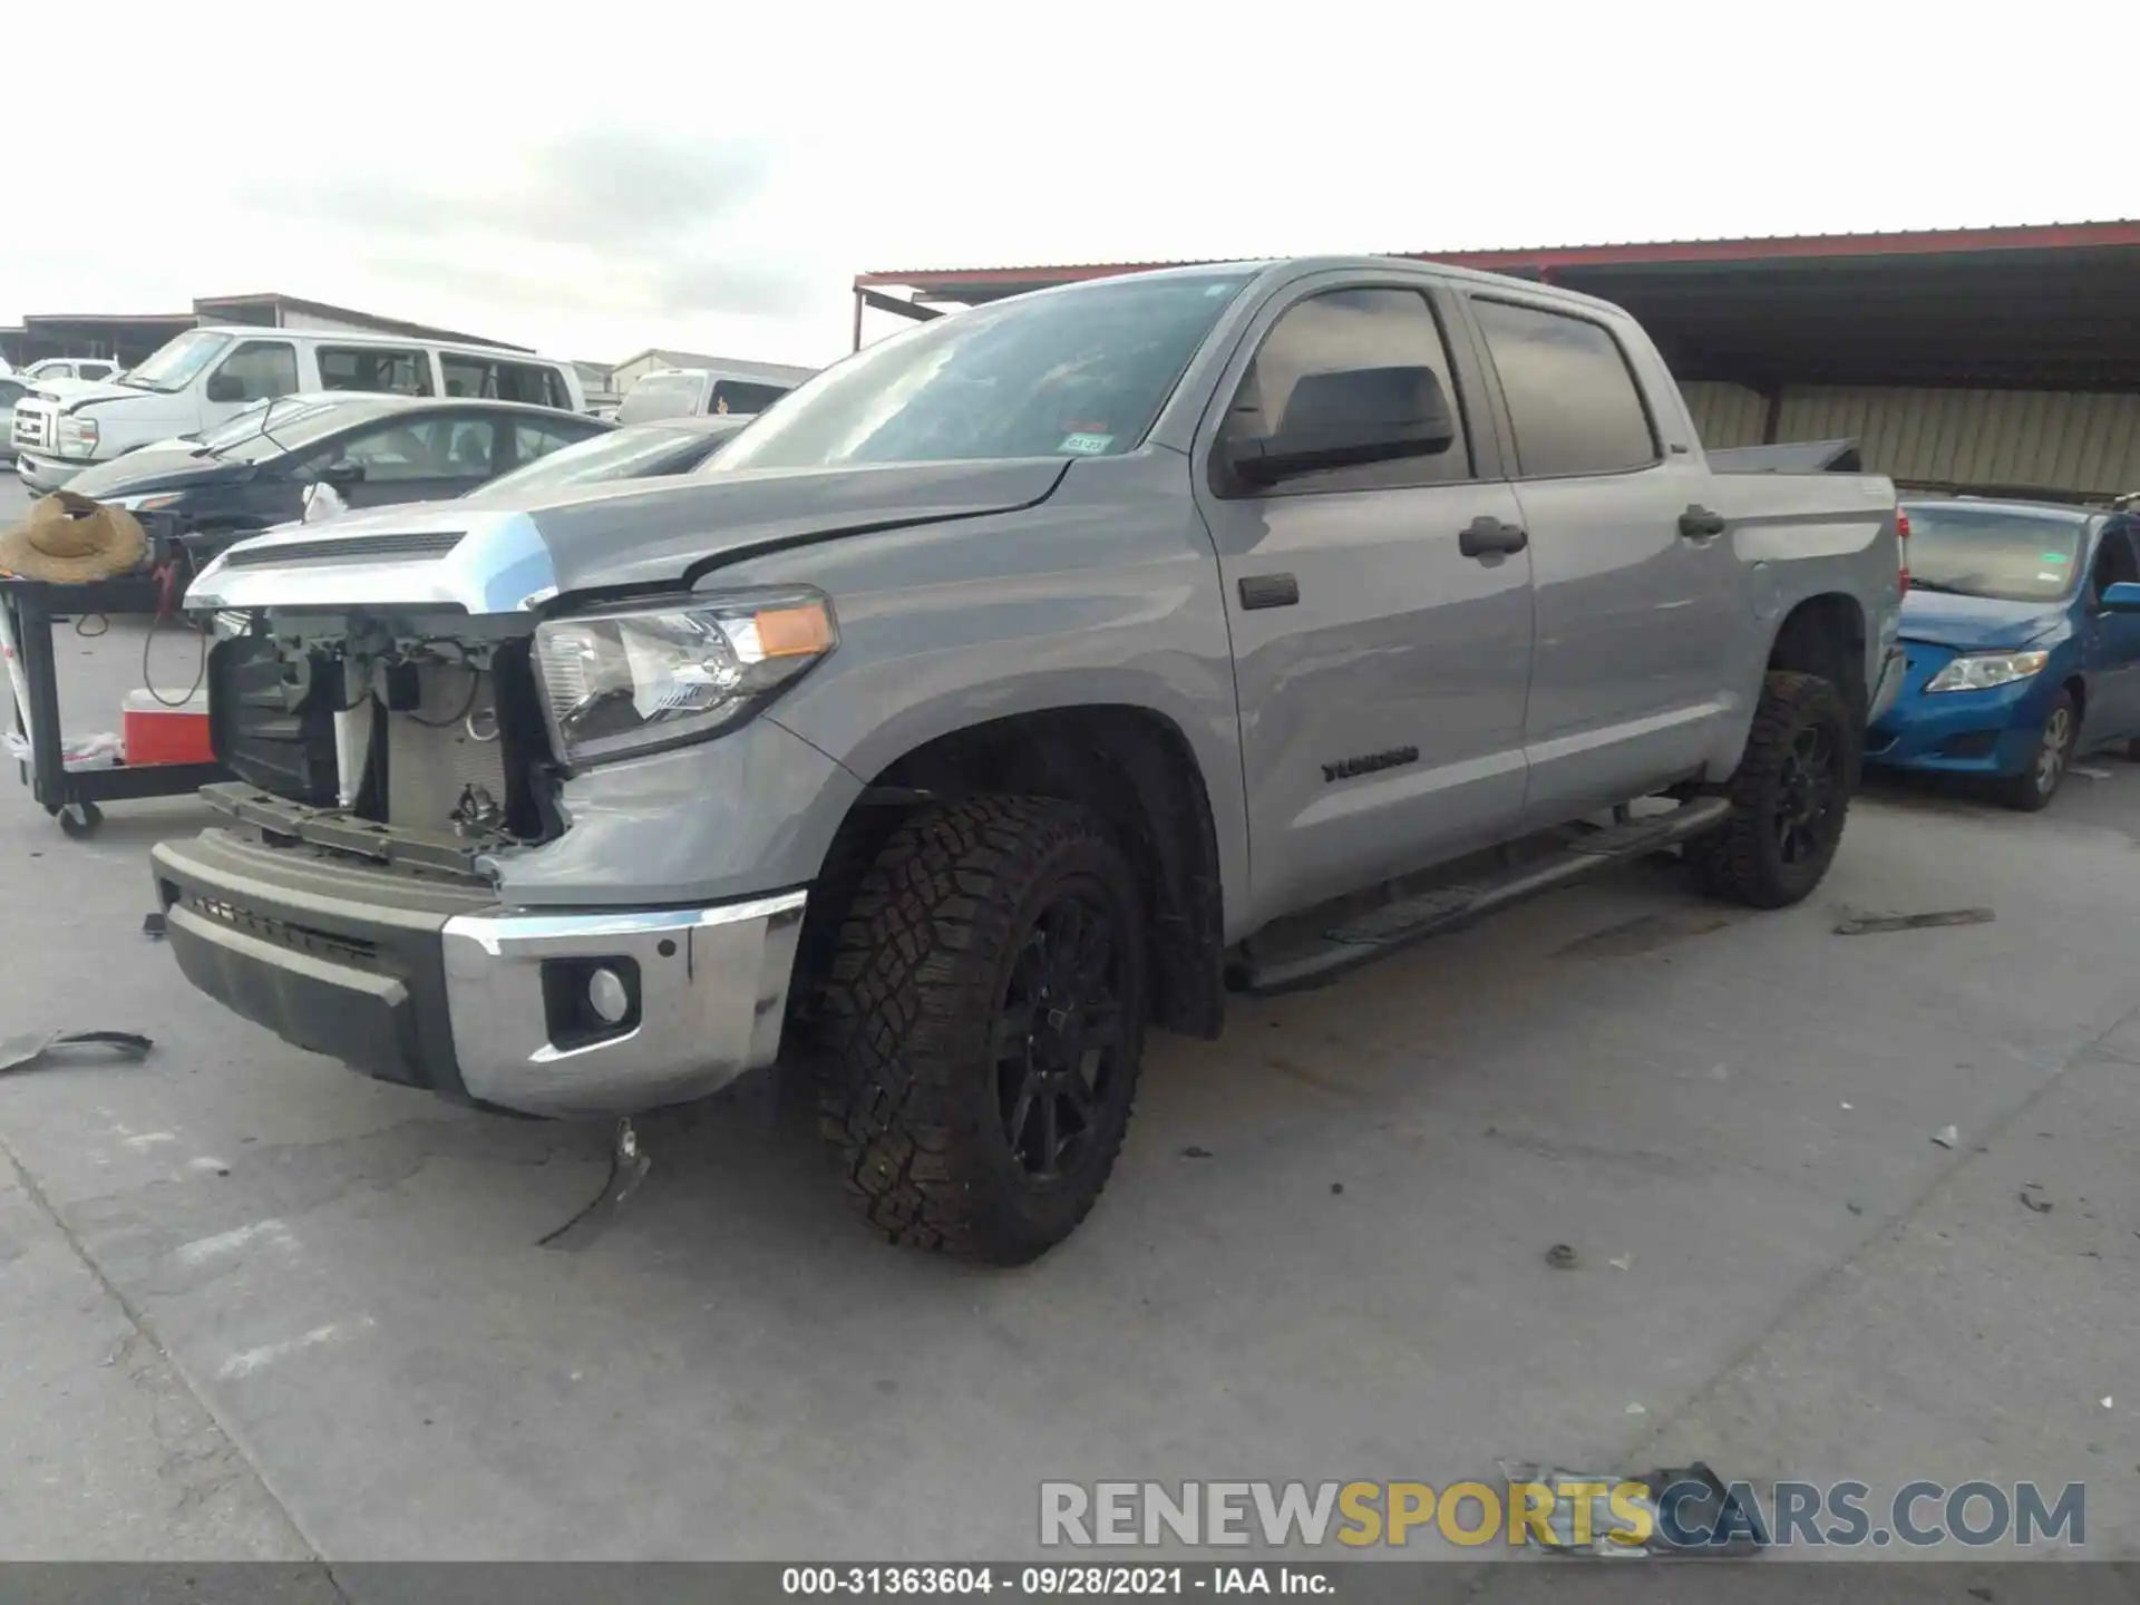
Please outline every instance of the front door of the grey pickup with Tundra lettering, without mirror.
[{"label": "front door of the grey pickup with Tundra lettering, without mirror", "polygon": [[[1425,276],[1293,285],[1258,312],[1196,437],[1258,920],[1489,843],[1524,800],[1530,552],[1449,312]],[[1226,471],[1235,441],[1284,437],[1303,379],[1359,368],[1432,370],[1451,445],[1263,488]]]}]

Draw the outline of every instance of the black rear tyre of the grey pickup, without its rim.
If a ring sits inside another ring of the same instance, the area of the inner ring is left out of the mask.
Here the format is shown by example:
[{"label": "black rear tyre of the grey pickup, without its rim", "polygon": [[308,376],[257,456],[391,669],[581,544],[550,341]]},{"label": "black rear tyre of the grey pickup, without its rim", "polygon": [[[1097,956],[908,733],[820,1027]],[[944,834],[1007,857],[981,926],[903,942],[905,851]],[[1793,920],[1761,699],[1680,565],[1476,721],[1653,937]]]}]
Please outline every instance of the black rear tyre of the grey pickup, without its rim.
[{"label": "black rear tyre of the grey pickup, without its rim", "polygon": [[[1836,794],[1817,845],[1806,856],[1785,858],[1778,813],[1785,807],[1787,775],[1806,732],[1823,728],[1840,764]],[[1731,817],[1686,843],[1695,882],[1748,907],[1789,907],[1802,901],[1821,884],[1843,843],[1858,766],[1858,723],[1836,685],[1819,674],[1770,672],[1761,683],[1746,751],[1725,785]]]}]

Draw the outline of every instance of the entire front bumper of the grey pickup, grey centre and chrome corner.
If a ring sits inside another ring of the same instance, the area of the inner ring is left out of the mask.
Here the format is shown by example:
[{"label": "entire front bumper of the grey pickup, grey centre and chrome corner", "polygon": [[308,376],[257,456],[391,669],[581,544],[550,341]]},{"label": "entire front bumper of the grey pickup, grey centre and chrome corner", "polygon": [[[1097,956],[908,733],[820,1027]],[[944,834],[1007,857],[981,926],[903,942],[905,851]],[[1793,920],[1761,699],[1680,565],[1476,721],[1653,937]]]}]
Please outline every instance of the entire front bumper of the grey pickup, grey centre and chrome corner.
[{"label": "entire front bumper of the grey pickup, grey centre and chrome corner", "polygon": [[[524,1115],[636,1115],[779,1055],[805,892],[518,914],[475,888],[210,830],[152,854],[186,978],[364,1074]],[[631,1010],[578,1008],[627,978]]]}]

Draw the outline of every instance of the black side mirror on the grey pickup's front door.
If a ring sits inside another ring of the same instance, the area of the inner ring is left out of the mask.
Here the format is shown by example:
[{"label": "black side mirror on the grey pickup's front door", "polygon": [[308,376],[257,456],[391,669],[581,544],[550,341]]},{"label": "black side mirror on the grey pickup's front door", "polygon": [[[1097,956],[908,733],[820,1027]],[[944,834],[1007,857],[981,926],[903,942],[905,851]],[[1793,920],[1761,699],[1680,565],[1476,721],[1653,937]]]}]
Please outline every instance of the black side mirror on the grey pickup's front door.
[{"label": "black side mirror on the grey pickup's front door", "polygon": [[1432,368],[1340,368],[1301,374],[1286,415],[1263,439],[1233,441],[1226,467],[1252,486],[1318,469],[1440,456],[1457,439]]}]

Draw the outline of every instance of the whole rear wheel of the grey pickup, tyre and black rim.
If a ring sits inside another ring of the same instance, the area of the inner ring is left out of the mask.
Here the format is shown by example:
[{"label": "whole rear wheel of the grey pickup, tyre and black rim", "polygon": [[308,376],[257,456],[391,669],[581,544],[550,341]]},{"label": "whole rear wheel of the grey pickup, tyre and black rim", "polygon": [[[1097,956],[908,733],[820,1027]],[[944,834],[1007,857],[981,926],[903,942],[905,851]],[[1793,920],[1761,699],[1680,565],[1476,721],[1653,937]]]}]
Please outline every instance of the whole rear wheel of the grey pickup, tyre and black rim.
[{"label": "whole rear wheel of the grey pickup, tyre and black rim", "polygon": [[1804,899],[1836,858],[1858,779],[1858,725],[1817,674],[1772,672],[1725,796],[1731,815],[1686,843],[1695,877],[1751,907]]}]

